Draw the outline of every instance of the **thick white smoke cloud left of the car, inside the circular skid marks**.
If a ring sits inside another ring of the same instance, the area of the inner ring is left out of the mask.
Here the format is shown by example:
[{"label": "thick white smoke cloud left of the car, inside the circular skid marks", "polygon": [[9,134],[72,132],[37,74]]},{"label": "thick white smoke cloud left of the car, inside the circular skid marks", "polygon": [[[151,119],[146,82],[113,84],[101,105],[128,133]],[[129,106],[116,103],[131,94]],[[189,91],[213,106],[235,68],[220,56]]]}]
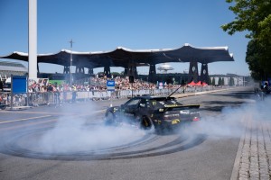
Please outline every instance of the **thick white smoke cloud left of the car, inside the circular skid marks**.
[{"label": "thick white smoke cloud left of the car, inside the circular skid marks", "polygon": [[84,118],[62,117],[53,129],[43,134],[39,148],[50,154],[95,152],[142,139],[148,133],[127,124],[113,127],[104,125],[102,120],[90,125],[87,122],[89,120]]}]

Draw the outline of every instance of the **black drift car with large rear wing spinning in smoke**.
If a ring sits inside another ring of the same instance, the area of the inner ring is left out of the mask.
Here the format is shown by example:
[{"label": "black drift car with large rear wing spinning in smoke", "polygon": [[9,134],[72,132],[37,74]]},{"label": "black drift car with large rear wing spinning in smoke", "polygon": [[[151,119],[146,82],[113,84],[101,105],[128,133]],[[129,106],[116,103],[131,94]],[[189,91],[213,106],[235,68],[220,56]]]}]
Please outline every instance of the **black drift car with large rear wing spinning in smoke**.
[{"label": "black drift car with large rear wing spinning in smoke", "polygon": [[174,97],[136,96],[120,106],[109,107],[107,124],[131,123],[140,128],[156,130],[180,127],[185,122],[199,121],[199,104],[183,105]]}]

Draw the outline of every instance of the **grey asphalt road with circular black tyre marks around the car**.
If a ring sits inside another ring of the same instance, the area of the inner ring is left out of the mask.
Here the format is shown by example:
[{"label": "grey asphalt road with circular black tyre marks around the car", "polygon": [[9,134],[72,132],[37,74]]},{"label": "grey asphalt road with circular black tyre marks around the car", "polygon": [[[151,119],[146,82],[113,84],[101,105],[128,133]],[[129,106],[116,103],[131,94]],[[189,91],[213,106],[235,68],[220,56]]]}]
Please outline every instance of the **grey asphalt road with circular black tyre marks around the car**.
[{"label": "grey asphalt road with circular black tyre marks around the car", "polygon": [[229,179],[252,95],[236,88],[179,99],[200,103],[202,121],[165,135],[104,126],[110,101],[0,111],[0,179]]}]

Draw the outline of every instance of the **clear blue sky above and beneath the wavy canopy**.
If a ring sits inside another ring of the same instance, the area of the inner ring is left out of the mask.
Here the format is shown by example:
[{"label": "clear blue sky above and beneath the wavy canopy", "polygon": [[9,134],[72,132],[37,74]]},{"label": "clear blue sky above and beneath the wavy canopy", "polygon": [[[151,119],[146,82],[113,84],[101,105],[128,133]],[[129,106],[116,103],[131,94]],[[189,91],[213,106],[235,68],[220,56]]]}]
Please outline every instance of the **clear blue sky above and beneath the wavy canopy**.
[{"label": "clear blue sky above and beneath the wavy canopy", "polygon": [[[228,46],[235,62],[209,64],[210,74],[249,74],[245,33],[230,36],[220,26],[234,20],[225,0],[37,0],[38,53]],[[0,56],[28,52],[28,0],[0,0]],[[24,63],[25,64],[25,63]],[[27,64],[26,64],[27,65]],[[182,72],[188,63],[173,63]],[[159,67],[159,65],[156,67]],[[199,68],[201,64],[199,64]],[[123,68],[111,68],[120,71]],[[41,72],[63,67],[41,64]],[[94,72],[102,71],[101,68]],[[138,68],[146,73],[148,67]]]}]

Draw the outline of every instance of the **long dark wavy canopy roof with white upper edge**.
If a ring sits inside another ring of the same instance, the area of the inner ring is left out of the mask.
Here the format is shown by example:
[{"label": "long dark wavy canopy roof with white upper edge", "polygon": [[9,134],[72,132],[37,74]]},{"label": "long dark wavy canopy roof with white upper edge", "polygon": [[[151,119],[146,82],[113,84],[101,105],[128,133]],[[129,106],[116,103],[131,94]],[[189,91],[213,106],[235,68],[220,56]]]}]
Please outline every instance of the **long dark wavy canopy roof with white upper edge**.
[{"label": "long dark wavy canopy roof with white upper edge", "polygon": [[[125,67],[127,64],[136,66],[148,66],[166,62],[191,62],[195,60],[201,63],[217,61],[234,61],[229,54],[228,47],[195,48],[185,44],[179,49],[126,49],[117,47],[112,51],[78,52],[61,49],[55,54],[38,54],[38,63],[51,63],[62,66],[70,66],[70,54],[72,65],[80,67]],[[12,54],[0,57],[28,61],[28,54],[14,51]]]}]

